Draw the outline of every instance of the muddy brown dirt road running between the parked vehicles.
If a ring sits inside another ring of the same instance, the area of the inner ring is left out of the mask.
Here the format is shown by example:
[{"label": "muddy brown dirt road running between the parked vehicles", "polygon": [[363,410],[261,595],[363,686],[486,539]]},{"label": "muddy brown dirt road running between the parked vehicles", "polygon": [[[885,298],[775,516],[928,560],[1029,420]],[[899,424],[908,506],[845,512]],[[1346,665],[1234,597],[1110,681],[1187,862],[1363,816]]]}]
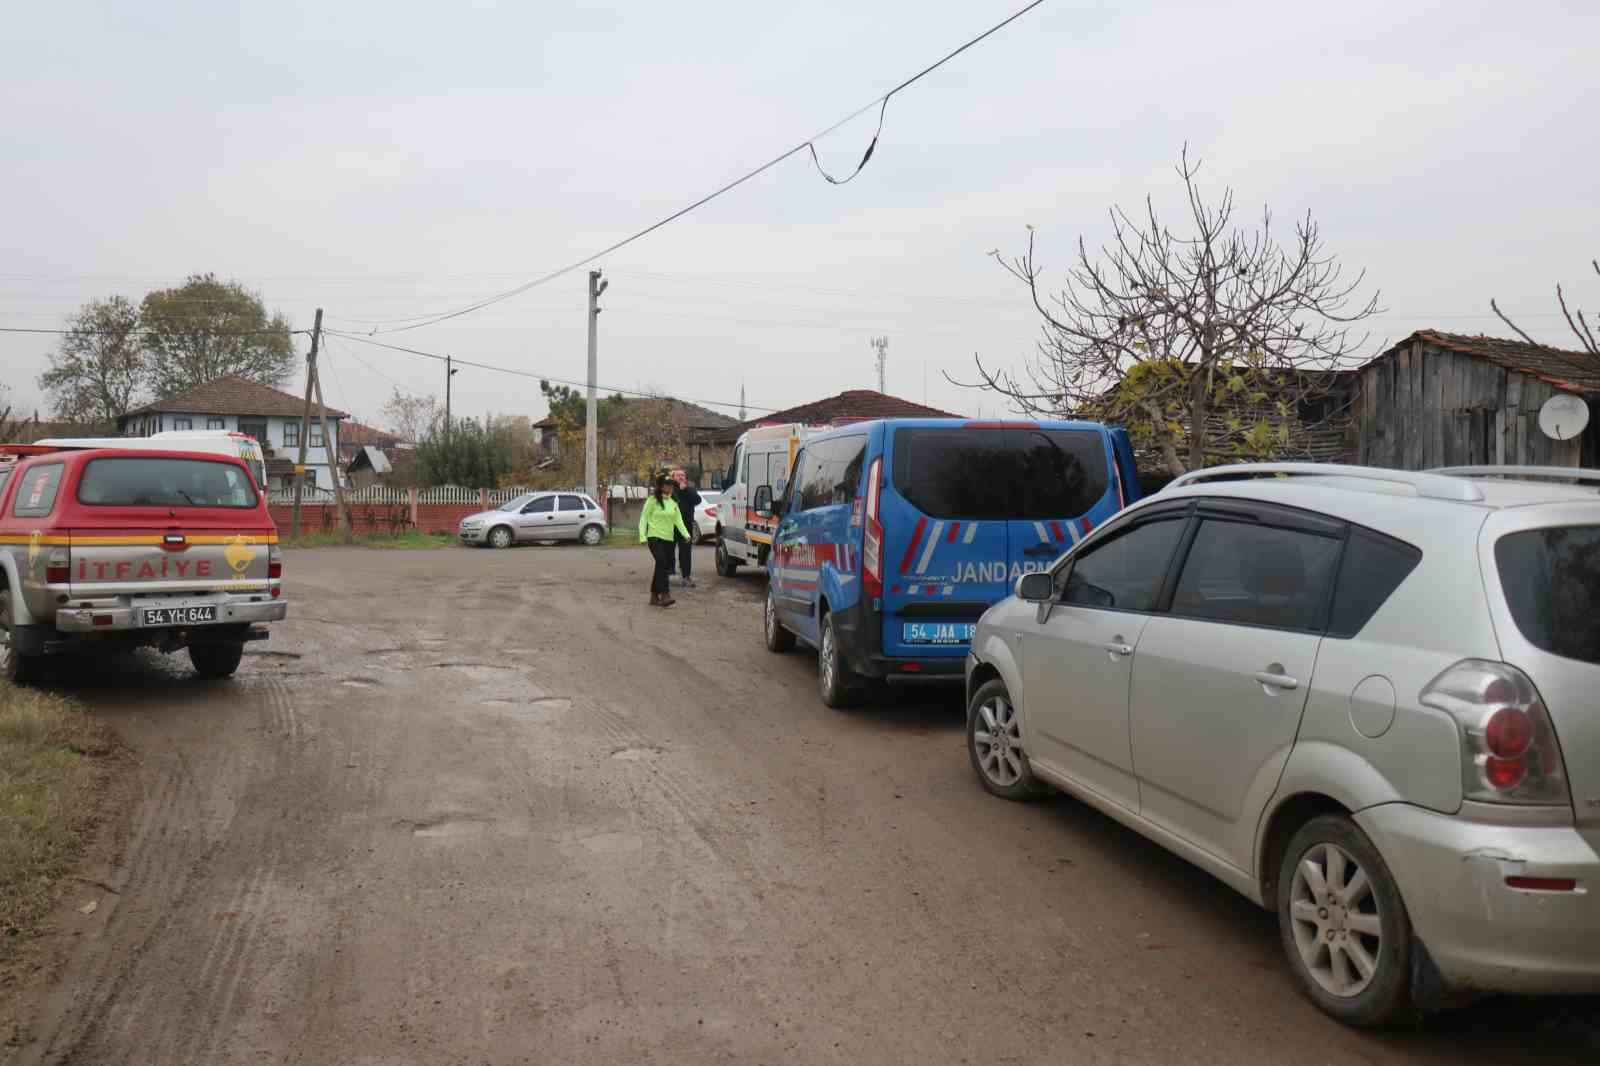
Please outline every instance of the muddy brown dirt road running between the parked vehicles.
[{"label": "muddy brown dirt road running between the parked vehicles", "polygon": [[13,1058],[1600,1061],[1594,1000],[1341,1029],[1266,912],[982,794],[958,693],[822,707],[709,562],[659,611],[632,551],[291,552],[234,682],[82,680],[142,800]]}]

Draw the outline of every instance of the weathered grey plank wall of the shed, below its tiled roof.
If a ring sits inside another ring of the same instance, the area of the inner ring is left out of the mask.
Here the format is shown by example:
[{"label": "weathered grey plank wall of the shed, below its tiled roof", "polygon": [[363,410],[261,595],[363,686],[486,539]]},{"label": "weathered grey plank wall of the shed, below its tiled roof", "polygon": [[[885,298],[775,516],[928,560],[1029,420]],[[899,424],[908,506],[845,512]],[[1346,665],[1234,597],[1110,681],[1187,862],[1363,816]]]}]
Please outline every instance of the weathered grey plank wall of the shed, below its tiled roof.
[{"label": "weathered grey plank wall of the shed, below its tiled roof", "polygon": [[1531,375],[1432,344],[1406,344],[1362,371],[1357,461],[1422,471],[1469,464],[1590,464],[1595,423],[1573,440],[1539,431],[1557,389]]}]

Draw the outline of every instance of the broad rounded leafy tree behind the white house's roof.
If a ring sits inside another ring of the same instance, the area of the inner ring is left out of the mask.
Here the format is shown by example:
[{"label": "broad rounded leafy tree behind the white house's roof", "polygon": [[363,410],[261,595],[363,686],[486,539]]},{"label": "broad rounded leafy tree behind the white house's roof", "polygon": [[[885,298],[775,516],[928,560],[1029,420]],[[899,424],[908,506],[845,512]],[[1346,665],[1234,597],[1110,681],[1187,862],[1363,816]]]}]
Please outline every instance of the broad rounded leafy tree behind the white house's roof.
[{"label": "broad rounded leafy tree behind the white house's roof", "polygon": [[269,315],[256,293],[214,274],[149,293],[139,306],[150,386],[173,395],[237,375],[278,386],[298,365],[290,323]]}]

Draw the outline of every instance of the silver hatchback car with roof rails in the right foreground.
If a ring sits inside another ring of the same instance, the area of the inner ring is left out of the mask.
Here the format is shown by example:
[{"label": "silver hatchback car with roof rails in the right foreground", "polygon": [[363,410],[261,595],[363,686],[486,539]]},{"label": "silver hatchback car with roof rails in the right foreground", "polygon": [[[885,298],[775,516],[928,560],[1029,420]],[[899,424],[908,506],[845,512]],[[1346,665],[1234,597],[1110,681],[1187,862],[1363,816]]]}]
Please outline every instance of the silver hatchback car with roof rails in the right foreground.
[{"label": "silver hatchback car with roof rails in the right foreground", "polygon": [[1342,1021],[1600,992],[1597,482],[1187,474],[982,616],[973,768],[1277,911]]}]

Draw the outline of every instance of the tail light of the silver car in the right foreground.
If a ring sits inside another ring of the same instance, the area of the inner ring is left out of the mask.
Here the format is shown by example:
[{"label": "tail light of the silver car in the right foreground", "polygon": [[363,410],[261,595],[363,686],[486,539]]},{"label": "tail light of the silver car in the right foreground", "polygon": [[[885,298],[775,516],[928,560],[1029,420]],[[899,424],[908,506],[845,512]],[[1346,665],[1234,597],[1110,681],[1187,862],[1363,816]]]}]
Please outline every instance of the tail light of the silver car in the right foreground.
[{"label": "tail light of the silver car in the right foreground", "polygon": [[1462,659],[1422,690],[1461,728],[1461,792],[1488,804],[1571,804],[1539,690],[1506,663]]}]

